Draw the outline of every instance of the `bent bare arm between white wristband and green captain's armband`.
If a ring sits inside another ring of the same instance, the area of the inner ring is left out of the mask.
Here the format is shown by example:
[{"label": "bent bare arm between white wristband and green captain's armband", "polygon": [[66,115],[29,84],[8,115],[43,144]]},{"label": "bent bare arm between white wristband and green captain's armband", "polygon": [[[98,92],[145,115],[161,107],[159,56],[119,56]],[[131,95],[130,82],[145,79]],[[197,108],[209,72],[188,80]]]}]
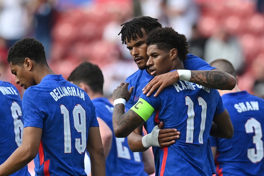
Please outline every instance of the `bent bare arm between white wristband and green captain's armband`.
[{"label": "bent bare arm between white wristband and green captain's armband", "polygon": [[113,129],[116,137],[127,137],[134,129],[142,125],[145,121],[138,115],[128,110],[124,114],[124,105],[115,105],[113,111]]}]

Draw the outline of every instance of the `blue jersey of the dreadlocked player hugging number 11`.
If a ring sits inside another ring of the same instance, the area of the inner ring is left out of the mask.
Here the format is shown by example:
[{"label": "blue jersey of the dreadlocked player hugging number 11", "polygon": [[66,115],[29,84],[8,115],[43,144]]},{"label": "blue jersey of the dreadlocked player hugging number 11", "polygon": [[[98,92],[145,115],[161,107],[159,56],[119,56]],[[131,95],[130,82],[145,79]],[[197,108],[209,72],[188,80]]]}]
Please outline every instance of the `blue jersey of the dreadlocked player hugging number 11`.
[{"label": "blue jersey of the dreadlocked player hugging number 11", "polygon": [[[187,59],[183,62],[184,68],[188,70],[212,70],[216,69],[215,67],[211,67],[207,62],[202,60],[201,58],[194,56],[192,54],[187,54]],[[134,86],[134,90],[131,94],[130,99],[126,102],[125,109],[129,110],[131,107],[134,106],[135,103],[137,103],[141,93],[142,89],[145,87],[145,85],[153,79],[153,76],[150,75],[146,69],[145,70],[138,70],[135,73],[133,73],[131,76],[129,76],[126,79],[126,82],[129,82],[128,90],[130,87]],[[154,123],[153,123],[154,121]],[[152,129],[155,125],[159,123],[158,118],[155,116],[151,116],[145,123],[144,127],[147,130],[147,133],[151,133]],[[208,144],[208,153],[210,153],[209,157],[209,168],[208,170],[212,170],[212,174],[215,173],[215,167],[213,164],[213,156],[212,156],[212,150],[211,146]],[[153,154],[154,154],[154,161],[156,169],[159,168],[159,149],[156,150],[156,147],[152,147]],[[156,170],[156,174],[158,173],[158,170]]]}]

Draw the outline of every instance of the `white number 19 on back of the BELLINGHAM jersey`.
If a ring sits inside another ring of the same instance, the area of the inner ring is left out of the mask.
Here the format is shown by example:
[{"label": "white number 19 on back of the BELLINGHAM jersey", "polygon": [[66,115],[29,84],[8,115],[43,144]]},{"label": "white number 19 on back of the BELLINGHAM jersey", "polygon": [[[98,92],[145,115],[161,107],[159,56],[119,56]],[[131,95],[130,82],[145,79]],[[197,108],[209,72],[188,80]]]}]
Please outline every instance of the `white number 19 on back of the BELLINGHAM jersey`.
[{"label": "white number 19 on back of the BELLINGHAM jersey", "polygon": [[[64,122],[64,153],[71,153],[71,131],[70,131],[70,115],[69,110],[61,105],[61,113],[63,114]],[[81,139],[75,139],[75,148],[82,154],[86,148],[86,115],[84,108],[77,104],[73,111],[74,128],[78,133],[81,133]]]}]

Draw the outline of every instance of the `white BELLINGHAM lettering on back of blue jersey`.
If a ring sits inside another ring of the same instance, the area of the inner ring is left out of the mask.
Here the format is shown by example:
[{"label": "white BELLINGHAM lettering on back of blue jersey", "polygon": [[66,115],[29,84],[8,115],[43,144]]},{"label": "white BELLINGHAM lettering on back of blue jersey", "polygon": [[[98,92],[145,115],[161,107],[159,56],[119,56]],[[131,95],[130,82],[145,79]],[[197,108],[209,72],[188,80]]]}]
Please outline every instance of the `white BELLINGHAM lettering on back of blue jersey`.
[{"label": "white BELLINGHAM lettering on back of blue jersey", "polygon": [[75,87],[57,87],[50,92],[50,95],[55,101],[64,96],[77,96],[85,101],[84,92]]}]

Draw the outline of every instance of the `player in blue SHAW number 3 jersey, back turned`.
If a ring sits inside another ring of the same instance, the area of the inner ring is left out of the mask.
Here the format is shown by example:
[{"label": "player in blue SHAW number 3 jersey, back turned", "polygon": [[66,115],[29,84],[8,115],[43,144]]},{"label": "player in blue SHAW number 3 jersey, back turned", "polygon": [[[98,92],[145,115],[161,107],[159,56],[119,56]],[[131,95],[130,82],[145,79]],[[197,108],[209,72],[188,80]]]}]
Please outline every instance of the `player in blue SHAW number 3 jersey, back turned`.
[{"label": "player in blue SHAW number 3 jersey, back turned", "polygon": [[[217,59],[211,65],[236,77],[236,70],[225,59]],[[230,114],[234,136],[231,139],[210,137],[216,175],[263,175],[264,100],[241,91],[237,85],[233,90],[219,90],[219,93]]]}]

